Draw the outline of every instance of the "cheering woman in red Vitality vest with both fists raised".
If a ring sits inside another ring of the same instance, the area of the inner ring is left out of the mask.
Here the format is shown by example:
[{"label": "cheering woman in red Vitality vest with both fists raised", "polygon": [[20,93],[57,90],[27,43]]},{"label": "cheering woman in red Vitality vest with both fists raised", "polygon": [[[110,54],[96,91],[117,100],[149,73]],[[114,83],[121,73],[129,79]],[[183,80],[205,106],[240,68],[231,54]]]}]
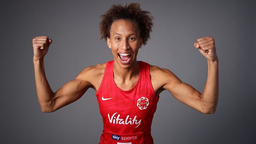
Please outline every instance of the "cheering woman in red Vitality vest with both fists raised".
[{"label": "cheering woman in red Vitality vest with both fists raised", "polygon": [[103,117],[100,144],[153,144],[151,123],[159,94],[168,90],[177,100],[205,114],[218,102],[218,57],[212,37],[197,39],[194,46],[206,57],[208,77],[203,93],[183,83],[171,71],[137,61],[137,53],[150,38],[153,17],[138,3],[112,5],[102,15],[101,39],[114,60],[85,68],[55,93],[47,82],[43,58],[52,40],[33,39],[36,89],[42,112],[54,112],[78,100],[93,88]]}]

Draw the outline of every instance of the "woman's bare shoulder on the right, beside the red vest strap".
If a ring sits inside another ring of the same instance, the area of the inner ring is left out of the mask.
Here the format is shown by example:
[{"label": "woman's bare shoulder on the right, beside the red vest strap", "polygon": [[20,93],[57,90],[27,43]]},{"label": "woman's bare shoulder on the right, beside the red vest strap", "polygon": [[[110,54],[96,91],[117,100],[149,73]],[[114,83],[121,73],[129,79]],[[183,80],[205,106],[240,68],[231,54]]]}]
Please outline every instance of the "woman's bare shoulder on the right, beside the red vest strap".
[{"label": "woman's bare shoulder on the right, beside the red vest strap", "polygon": [[181,82],[181,80],[172,71],[166,68],[160,68],[149,64],[149,71],[153,88],[155,86],[160,92],[166,90],[166,85],[170,83]]}]

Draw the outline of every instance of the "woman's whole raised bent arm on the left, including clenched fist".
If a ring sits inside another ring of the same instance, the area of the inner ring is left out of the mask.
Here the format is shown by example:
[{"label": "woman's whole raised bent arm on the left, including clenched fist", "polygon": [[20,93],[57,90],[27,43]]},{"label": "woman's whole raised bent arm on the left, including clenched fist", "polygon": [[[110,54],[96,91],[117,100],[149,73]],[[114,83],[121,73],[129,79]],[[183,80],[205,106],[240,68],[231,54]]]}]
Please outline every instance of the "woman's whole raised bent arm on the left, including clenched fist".
[{"label": "woman's whole raised bent arm on the left, including clenched fist", "polygon": [[55,93],[52,91],[46,79],[43,60],[51,43],[52,40],[47,36],[33,39],[36,91],[42,112],[54,112],[78,100],[92,86],[89,78],[94,66],[84,69],[74,80],[63,85]]}]

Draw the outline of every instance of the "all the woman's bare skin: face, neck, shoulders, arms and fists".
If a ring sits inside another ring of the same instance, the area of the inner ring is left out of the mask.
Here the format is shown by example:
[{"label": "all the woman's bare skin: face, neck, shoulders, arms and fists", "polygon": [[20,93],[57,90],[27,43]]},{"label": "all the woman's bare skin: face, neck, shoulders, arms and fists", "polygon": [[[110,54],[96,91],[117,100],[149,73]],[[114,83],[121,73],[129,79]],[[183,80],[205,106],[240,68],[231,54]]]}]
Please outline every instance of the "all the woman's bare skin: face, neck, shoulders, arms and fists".
[{"label": "all the woman's bare skin: face, neck, shoulders, arms and fists", "polygon": [[[42,112],[54,112],[78,100],[89,88],[97,91],[106,66],[106,63],[103,63],[87,67],[74,80],[53,92],[47,82],[43,63],[43,58],[51,43],[52,40],[47,36],[33,39],[36,89]],[[115,83],[122,90],[130,90],[138,80],[140,67],[136,58],[142,45],[142,38],[139,37],[137,23],[127,20],[113,22],[107,44],[115,61],[113,69]],[[168,90],[178,101],[199,112],[212,114],[217,108],[219,94],[218,57],[215,42],[212,37],[206,36],[197,39],[194,47],[199,50],[208,63],[207,81],[202,93],[182,82],[170,70],[154,65],[149,65],[151,83],[157,96],[162,91]],[[130,64],[124,65],[119,61],[117,53],[121,51],[133,54]]]}]

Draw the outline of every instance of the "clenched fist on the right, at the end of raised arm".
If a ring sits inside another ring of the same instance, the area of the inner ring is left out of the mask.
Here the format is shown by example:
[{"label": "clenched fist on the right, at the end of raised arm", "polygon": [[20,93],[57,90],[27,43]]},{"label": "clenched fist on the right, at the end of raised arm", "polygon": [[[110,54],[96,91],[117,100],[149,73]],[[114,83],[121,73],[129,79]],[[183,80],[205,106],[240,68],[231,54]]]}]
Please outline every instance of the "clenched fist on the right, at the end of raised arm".
[{"label": "clenched fist on the right, at the end of raised arm", "polygon": [[213,37],[206,36],[197,39],[197,42],[194,43],[194,47],[196,47],[205,58],[211,61],[214,61],[217,57]]}]

